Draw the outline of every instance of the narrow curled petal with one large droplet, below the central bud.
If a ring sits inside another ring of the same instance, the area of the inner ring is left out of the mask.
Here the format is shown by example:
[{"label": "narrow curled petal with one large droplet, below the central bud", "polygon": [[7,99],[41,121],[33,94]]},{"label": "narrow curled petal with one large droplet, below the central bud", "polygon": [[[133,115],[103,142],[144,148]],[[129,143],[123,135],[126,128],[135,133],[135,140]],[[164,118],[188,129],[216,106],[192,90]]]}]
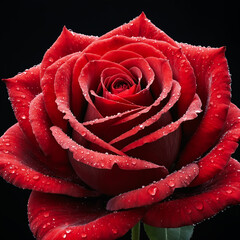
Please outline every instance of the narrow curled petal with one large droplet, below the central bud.
[{"label": "narrow curled petal with one large droplet, below the central bud", "polygon": [[170,196],[176,188],[188,186],[197,175],[197,164],[189,164],[158,182],[112,198],[107,204],[107,209],[114,211],[160,202]]}]

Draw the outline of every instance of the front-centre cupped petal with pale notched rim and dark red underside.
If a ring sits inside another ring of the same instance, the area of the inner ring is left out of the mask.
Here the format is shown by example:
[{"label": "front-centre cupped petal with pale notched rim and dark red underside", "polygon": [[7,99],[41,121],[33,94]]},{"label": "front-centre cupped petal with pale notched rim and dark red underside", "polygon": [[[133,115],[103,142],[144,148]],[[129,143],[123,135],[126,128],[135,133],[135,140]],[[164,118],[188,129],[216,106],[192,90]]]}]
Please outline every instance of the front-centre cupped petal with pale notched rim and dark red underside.
[{"label": "front-centre cupped petal with pale notched rim and dark red underside", "polygon": [[61,129],[52,127],[51,130],[58,143],[73,154],[70,160],[79,177],[101,193],[116,195],[168,174],[163,166],[128,156],[95,152],[78,145]]}]

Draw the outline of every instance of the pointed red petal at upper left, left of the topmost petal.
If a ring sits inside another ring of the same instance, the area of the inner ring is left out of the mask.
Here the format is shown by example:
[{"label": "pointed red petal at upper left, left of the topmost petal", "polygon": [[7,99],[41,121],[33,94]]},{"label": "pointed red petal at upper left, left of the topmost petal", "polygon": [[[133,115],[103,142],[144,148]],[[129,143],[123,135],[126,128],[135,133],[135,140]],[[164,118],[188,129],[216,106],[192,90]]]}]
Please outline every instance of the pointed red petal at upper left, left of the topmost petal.
[{"label": "pointed red petal at upper left, left of the topmost petal", "polygon": [[82,51],[96,39],[97,37],[74,33],[64,27],[61,35],[43,57],[41,64],[41,77],[43,77],[46,69],[58,59]]}]

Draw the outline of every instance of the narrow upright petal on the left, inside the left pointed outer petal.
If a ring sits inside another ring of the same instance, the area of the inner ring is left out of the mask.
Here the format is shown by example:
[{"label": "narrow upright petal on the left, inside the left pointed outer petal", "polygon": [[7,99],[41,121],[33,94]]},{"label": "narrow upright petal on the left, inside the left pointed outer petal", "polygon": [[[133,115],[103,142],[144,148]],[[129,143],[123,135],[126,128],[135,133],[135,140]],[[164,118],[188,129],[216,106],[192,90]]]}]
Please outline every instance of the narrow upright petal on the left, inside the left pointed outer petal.
[{"label": "narrow upright petal on the left, inside the left pointed outer petal", "polygon": [[42,93],[37,95],[30,104],[29,120],[37,142],[46,156],[40,160],[43,160],[51,170],[63,176],[71,176],[72,168],[69,165],[67,152],[59,146],[50,131],[52,122],[46,113]]}]

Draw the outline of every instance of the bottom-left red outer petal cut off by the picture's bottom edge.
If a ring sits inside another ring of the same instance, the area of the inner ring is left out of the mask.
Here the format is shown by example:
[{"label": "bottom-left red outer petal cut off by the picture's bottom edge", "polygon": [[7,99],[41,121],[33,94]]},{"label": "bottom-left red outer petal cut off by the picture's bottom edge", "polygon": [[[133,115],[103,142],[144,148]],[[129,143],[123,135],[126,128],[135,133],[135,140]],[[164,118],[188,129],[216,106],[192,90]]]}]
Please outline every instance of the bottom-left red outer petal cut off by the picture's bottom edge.
[{"label": "bottom-left red outer petal cut off by the picture's bottom edge", "polygon": [[30,228],[39,240],[119,238],[142,217],[143,209],[105,210],[103,199],[73,199],[33,192],[29,199]]}]

